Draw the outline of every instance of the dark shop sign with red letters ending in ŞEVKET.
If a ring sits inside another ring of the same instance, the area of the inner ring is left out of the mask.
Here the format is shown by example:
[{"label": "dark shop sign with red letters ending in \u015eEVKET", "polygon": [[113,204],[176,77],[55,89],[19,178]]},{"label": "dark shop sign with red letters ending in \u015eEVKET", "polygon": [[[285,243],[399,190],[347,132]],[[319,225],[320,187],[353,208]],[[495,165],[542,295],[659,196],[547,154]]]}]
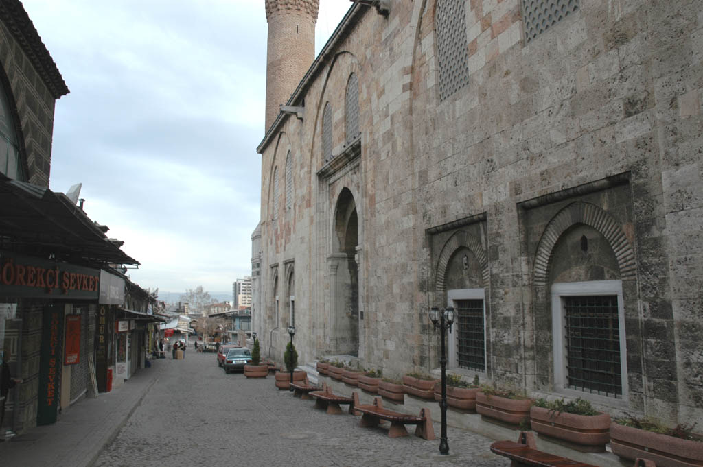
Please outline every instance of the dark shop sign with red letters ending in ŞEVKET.
[{"label": "dark shop sign with red letters ending in \u015eEVKET", "polygon": [[99,290],[99,270],[0,251],[0,296],[96,300]]}]

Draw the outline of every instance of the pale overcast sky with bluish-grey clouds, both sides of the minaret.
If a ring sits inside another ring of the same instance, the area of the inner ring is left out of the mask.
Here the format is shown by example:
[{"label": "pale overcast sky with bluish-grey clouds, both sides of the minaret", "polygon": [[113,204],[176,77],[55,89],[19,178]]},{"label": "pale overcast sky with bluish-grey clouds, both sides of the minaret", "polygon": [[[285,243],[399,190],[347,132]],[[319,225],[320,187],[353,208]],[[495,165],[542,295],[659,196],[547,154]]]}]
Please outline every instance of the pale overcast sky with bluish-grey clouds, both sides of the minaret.
[{"label": "pale overcast sky with bluish-grey clouds, both sides of the minaret", "polygon": [[[141,266],[143,288],[231,291],[251,274],[266,93],[264,0],[22,0],[70,93],[50,188]],[[316,53],[352,4],[320,0]]]}]

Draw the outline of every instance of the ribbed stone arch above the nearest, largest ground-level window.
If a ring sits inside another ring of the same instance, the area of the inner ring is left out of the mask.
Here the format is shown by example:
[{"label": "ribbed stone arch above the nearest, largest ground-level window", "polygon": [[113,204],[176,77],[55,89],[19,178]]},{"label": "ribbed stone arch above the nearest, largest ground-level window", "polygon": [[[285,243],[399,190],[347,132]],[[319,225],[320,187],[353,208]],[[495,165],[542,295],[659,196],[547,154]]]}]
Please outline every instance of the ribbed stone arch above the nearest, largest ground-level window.
[{"label": "ribbed stone arch above the nearest, largest ground-level window", "polygon": [[559,211],[549,221],[537,246],[534,258],[534,284],[544,286],[549,277],[549,265],[554,246],[561,235],[575,224],[585,224],[598,230],[610,243],[622,279],[633,279],[636,274],[635,251],[621,225],[595,204],[574,202]]}]

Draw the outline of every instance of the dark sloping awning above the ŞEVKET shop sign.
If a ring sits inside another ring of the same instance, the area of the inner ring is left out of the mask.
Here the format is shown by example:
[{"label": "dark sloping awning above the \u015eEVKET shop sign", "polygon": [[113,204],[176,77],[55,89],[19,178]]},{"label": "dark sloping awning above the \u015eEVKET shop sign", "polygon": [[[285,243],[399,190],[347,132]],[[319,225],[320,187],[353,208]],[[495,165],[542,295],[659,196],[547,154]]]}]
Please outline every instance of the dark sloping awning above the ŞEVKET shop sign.
[{"label": "dark sloping awning above the \u015eEVKET shop sign", "polygon": [[138,265],[63,193],[0,173],[0,237],[62,261]]}]

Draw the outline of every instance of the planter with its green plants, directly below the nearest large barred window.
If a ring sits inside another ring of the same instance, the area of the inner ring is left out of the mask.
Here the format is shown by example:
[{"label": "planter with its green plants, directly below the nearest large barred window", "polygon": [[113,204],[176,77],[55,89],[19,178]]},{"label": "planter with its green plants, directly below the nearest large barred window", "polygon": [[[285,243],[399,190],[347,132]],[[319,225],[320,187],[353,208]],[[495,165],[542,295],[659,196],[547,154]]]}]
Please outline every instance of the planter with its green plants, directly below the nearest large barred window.
[{"label": "planter with its green plants, directly below the nearest large barred window", "polygon": [[598,412],[581,397],[569,402],[538,399],[529,416],[537,433],[572,443],[582,452],[604,452],[610,441],[610,415]]}]

